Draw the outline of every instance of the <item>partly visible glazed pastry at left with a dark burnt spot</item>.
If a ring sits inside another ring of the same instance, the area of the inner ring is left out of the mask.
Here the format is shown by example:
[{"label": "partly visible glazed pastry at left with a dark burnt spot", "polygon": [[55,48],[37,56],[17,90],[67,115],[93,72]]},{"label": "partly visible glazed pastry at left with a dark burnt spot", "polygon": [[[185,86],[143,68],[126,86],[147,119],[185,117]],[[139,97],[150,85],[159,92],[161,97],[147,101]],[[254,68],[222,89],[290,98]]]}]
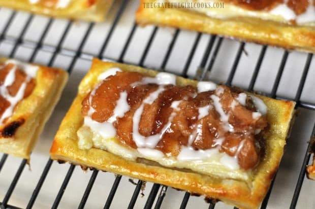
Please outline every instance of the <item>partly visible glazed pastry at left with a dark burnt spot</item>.
[{"label": "partly visible glazed pastry at left with a dark burnt spot", "polygon": [[[68,73],[61,69],[5,58],[0,58],[0,66],[0,74],[3,75],[6,68],[10,69],[0,87],[2,113],[0,152],[29,159],[29,155],[64,89]],[[9,75],[10,73],[12,74]],[[2,79],[3,75],[0,75]],[[21,75],[26,76],[25,80],[20,84],[15,95],[11,93],[9,95],[12,86],[19,85],[15,82],[21,82],[21,78],[23,78]],[[33,85],[28,95],[25,95],[28,89],[26,79],[29,79],[28,82]],[[27,84],[26,88],[24,84]],[[11,102],[10,106],[8,101]]]}]

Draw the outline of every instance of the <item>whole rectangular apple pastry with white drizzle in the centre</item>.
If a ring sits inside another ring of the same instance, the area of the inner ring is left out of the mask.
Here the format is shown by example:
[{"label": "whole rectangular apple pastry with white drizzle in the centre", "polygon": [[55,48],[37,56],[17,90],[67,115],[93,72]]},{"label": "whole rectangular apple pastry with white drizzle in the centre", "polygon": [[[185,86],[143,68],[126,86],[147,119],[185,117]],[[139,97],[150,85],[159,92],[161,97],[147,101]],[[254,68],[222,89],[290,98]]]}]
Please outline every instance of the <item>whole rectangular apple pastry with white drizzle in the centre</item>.
[{"label": "whole rectangular apple pastry with white drizzle in the centre", "polygon": [[295,102],[93,59],[50,150],[54,160],[257,208]]}]

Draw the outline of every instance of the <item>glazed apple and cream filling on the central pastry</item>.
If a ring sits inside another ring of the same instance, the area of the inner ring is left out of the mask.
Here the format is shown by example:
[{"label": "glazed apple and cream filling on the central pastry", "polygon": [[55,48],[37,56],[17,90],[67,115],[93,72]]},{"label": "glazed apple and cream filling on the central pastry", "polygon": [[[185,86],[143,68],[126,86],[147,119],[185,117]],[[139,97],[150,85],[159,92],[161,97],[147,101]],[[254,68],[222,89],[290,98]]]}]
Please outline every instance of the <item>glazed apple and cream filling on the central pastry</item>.
[{"label": "glazed apple and cream filling on the central pastry", "polygon": [[176,86],[171,74],[112,68],[82,101],[78,145],[247,180],[264,155],[266,112],[261,99],[235,88]]}]

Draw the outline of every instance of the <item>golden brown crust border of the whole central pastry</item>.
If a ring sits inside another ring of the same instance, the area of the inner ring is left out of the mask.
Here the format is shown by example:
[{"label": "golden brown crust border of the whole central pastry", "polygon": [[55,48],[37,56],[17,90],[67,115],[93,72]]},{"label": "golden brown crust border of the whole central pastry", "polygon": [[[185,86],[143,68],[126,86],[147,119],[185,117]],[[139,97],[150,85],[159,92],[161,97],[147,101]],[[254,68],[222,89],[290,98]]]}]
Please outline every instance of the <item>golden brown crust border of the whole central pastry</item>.
[{"label": "golden brown crust border of the whole central pastry", "polygon": [[[280,101],[257,95],[264,100],[268,107],[267,120],[270,124],[270,131],[265,135],[267,138],[266,155],[253,171],[252,184],[248,185],[236,180],[215,179],[196,172],[129,161],[100,149],[80,150],[78,148],[77,130],[83,124],[81,102],[96,85],[98,76],[112,67],[119,67],[123,71],[140,72],[149,76],[157,74],[150,69],[94,59],[90,71],[79,86],[77,97],[55,136],[50,150],[52,159],[111,171],[131,178],[202,194],[207,198],[218,199],[240,208],[257,208],[259,206],[268,191],[283,154],[295,102]],[[177,84],[196,85],[197,81],[177,77]]]}]

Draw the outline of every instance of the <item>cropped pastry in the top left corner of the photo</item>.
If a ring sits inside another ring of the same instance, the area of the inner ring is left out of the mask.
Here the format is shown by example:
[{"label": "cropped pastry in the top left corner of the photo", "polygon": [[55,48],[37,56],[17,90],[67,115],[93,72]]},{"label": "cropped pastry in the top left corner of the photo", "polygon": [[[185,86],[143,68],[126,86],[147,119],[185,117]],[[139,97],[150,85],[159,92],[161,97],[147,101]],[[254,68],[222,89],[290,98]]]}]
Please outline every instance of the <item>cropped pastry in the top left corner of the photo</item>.
[{"label": "cropped pastry in the top left corner of the photo", "polygon": [[0,6],[57,18],[101,22],[113,0],[0,0]]}]

